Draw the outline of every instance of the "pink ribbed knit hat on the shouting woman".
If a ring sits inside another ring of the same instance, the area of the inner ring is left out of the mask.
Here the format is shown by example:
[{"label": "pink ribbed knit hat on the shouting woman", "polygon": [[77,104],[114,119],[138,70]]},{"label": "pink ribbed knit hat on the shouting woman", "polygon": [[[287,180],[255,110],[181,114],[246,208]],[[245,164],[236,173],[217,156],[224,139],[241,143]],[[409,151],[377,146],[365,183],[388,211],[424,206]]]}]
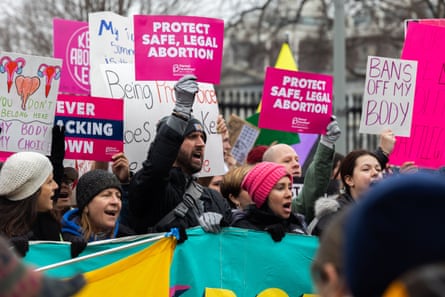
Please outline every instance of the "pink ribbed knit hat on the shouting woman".
[{"label": "pink ribbed knit hat on the shouting woman", "polygon": [[246,174],[241,188],[249,193],[253,202],[260,208],[272,188],[283,176],[288,176],[292,182],[292,176],[283,165],[274,162],[260,162]]}]

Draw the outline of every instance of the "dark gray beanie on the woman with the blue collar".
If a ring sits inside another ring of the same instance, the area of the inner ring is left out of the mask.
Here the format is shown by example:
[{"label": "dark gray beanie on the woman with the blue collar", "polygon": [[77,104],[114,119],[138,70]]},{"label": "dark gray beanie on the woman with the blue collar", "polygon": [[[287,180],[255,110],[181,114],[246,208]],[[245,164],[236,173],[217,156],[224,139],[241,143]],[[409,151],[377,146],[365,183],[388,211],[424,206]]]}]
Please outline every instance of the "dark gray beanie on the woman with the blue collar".
[{"label": "dark gray beanie on the woman with the blue collar", "polygon": [[79,178],[76,186],[76,202],[79,211],[90,203],[93,198],[105,189],[115,188],[121,192],[121,183],[117,177],[106,170],[95,169],[88,171]]}]

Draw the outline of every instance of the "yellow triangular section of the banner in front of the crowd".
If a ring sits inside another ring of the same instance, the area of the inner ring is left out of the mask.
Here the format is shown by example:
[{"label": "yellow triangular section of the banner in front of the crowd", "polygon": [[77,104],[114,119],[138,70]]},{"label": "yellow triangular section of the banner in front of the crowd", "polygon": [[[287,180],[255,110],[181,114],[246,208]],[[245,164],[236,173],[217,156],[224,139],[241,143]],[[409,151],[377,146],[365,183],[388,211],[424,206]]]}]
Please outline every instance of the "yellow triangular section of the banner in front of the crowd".
[{"label": "yellow triangular section of the banner in front of the crowd", "polygon": [[169,296],[175,245],[172,237],[163,238],[134,255],[85,273],[87,284],[75,296]]}]

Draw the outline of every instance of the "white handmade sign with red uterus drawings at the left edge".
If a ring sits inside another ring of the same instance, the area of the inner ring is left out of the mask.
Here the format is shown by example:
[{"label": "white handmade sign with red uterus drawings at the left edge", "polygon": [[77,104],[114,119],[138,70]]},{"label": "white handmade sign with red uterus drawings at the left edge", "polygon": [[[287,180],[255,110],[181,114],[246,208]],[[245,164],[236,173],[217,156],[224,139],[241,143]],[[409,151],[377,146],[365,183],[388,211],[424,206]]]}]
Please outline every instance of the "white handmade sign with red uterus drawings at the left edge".
[{"label": "white handmade sign with red uterus drawings at the left edge", "polygon": [[51,152],[62,61],[0,52],[0,151]]}]

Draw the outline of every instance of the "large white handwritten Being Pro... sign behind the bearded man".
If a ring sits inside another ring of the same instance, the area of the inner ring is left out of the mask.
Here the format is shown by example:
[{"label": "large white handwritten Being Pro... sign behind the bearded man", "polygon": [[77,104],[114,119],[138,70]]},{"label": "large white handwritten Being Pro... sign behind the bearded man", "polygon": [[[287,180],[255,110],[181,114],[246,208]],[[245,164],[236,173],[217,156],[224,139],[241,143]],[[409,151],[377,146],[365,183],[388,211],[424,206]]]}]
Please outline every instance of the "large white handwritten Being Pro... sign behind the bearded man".
[{"label": "large white handwritten Being Pro... sign behind the bearded man", "polygon": [[[170,115],[175,105],[175,81],[134,81],[134,66],[102,65],[106,81],[100,97],[124,98],[124,151],[130,169],[137,170],[147,157],[158,121]],[[204,165],[200,176],[224,174],[221,134],[216,131],[218,102],[212,84],[199,83],[193,116],[201,121],[207,134]]]}]

